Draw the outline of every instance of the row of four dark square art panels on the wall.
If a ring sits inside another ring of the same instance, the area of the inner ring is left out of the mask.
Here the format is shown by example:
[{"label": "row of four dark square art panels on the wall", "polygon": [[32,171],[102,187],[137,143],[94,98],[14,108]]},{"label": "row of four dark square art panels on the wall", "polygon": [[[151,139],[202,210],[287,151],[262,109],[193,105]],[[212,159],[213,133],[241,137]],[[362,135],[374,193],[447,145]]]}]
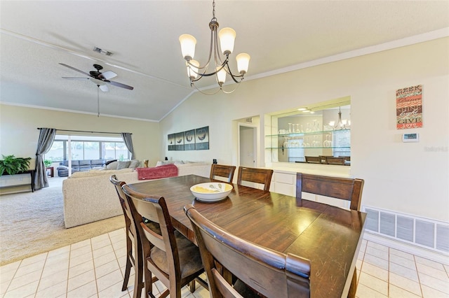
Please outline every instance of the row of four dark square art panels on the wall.
[{"label": "row of four dark square art panels on the wall", "polygon": [[168,151],[209,150],[209,127],[168,134]]}]

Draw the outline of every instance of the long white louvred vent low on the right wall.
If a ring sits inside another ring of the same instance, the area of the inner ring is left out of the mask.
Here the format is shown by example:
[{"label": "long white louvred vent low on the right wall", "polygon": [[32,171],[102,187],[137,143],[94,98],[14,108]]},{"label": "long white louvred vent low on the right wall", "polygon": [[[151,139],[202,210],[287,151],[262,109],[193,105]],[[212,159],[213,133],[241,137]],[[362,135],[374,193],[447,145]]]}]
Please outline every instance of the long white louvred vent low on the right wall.
[{"label": "long white louvred vent low on the right wall", "polygon": [[416,246],[449,253],[449,224],[413,215],[363,206],[366,232],[380,234]]}]

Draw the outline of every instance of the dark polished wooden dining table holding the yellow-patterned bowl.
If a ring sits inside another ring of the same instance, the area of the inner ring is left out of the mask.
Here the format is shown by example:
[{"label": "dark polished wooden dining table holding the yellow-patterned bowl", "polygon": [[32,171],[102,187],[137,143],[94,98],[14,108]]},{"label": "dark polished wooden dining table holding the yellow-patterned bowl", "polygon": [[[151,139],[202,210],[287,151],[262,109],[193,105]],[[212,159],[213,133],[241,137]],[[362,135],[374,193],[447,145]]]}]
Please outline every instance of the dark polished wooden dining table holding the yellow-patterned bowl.
[{"label": "dark polished wooden dining table holding the yellow-patterned bowl", "polygon": [[188,175],[129,187],[164,197],[173,226],[192,242],[196,239],[183,210],[187,204],[242,239],[309,259],[311,297],[347,297],[366,213],[236,184],[222,201],[198,201],[190,187],[208,182],[217,180]]}]

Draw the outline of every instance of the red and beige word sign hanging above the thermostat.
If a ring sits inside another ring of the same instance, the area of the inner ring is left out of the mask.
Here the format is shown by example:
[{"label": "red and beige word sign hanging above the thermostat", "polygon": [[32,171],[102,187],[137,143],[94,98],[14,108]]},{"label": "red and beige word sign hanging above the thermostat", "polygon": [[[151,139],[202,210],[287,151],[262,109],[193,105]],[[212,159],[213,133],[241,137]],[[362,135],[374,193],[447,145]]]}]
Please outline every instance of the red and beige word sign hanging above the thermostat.
[{"label": "red and beige word sign hanging above the thermostat", "polygon": [[422,127],[422,85],[396,90],[396,129]]}]

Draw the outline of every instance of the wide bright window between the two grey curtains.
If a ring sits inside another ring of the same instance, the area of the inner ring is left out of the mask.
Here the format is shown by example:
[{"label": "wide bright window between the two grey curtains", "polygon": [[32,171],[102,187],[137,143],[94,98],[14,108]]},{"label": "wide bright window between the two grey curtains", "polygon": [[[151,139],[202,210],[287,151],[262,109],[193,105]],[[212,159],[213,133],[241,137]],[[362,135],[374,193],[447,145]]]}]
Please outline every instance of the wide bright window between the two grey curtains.
[{"label": "wide bright window between the two grey curtains", "polygon": [[70,146],[72,160],[81,159],[130,159],[130,152],[123,139],[101,136],[56,135],[46,159],[53,162],[67,160]]}]

